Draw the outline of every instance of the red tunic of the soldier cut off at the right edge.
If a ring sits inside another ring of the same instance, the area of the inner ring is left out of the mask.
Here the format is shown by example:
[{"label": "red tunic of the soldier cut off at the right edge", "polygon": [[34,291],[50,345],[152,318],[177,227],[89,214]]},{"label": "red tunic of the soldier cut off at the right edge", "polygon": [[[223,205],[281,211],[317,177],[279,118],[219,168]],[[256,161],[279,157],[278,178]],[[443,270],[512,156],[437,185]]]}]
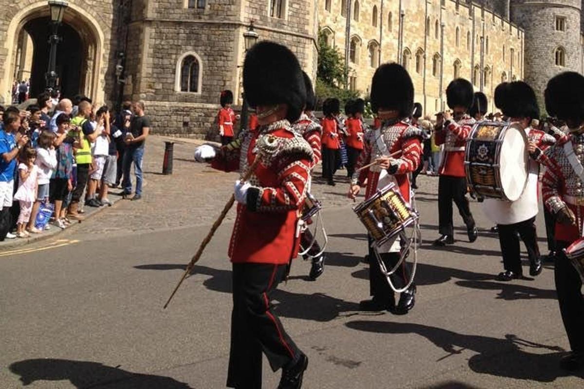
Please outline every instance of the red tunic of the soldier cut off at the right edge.
[{"label": "red tunic of the soldier cut off at the right edge", "polygon": [[555,239],[572,243],[583,235],[584,223],[584,183],[575,173],[566,156],[564,145],[572,142],[573,152],[580,164],[584,163],[584,135],[566,135],[548,148],[541,163],[545,164],[544,176],[541,180],[541,195],[545,206],[552,213],[568,206],[576,216],[576,226],[555,224]]}]

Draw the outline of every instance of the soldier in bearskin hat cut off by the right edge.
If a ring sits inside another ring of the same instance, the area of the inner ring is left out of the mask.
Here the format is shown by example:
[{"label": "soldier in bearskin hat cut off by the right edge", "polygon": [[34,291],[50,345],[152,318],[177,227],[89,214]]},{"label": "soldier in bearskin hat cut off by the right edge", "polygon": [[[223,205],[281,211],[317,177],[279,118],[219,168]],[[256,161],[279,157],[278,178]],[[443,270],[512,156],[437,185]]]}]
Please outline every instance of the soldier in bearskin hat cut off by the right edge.
[{"label": "soldier in bearskin hat cut off by the right edge", "polygon": [[581,90],[584,90],[584,77],[575,72],[555,76],[545,89],[545,109],[566,121],[569,135],[545,151],[543,163],[547,169],[541,188],[545,206],[556,220],[555,288],[571,348],[560,366],[570,371],[584,367],[582,279],[562,251],[583,236],[584,97],[577,92]]}]

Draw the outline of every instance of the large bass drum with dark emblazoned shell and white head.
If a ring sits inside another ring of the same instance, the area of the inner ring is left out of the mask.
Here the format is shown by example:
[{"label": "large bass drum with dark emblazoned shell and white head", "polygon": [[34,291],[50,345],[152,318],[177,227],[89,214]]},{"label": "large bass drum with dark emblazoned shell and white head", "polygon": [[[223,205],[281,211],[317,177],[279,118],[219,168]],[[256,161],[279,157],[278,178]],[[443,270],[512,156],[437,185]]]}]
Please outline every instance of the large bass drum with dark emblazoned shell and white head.
[{"label": "large bass drum with dark emblazoned shell and white head", "polygon": [[529,175],[527,136],[508,122],[478,122],[467,139],[464,166],[471,190],[487,198],[516,201]]}]

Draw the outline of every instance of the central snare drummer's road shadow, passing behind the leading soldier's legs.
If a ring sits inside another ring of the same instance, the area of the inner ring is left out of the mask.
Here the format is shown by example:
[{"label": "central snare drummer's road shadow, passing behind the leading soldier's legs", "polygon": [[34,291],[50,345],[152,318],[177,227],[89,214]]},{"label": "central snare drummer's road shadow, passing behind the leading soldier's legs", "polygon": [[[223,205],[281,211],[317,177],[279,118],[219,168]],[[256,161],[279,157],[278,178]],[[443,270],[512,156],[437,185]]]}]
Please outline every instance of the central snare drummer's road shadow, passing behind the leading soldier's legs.
[{"label": "central snare drummer's road shadow, passing behind the leading soldier's legs", "polygon": [[[134,268],[142,270],[184,270],[185,265],[177,264],[152,264],[139,265]],[[215,292],[231,293],[231,271],[213,269],[206,266],[195,265],[189,278],[196,275],[207,275],[203,285]],[[302,277],[302,276],[301,276]],[[189,282],[189,278],[186,282]],[[298,279],[298,277],[294,278]],[[293,293],[286,289],[286,282],[280,283],[273,293],[274,309],[282,317],[292,317],[319,322],[331,321],[337,317],[348,317],[361,314],[359,304],[347,302],[324,293]],[[367,315],[371,316],[371,315]]]}]

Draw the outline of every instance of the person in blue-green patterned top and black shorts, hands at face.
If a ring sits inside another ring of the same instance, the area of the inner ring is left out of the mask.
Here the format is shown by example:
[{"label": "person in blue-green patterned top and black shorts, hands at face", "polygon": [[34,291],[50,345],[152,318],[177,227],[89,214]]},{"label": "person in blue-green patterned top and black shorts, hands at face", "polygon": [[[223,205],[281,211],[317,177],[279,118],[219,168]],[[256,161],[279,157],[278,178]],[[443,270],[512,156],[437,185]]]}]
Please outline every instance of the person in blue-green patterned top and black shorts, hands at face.
[{"label": "person in blue-green patterned top and black shorts, hands at face", "polygon": [[57,166],[53,171],[49,184],[49,199],[55,204],[55,226],[64,229],[68,220],[62,215],[63,201],[69,192],[73,190],[72,170],[73,170],[73,148],[78,143],[71,136],[67,136],[71,117],[61,114],[57,117],[57,138],[54,145],[57,148],[55,157]]}]

